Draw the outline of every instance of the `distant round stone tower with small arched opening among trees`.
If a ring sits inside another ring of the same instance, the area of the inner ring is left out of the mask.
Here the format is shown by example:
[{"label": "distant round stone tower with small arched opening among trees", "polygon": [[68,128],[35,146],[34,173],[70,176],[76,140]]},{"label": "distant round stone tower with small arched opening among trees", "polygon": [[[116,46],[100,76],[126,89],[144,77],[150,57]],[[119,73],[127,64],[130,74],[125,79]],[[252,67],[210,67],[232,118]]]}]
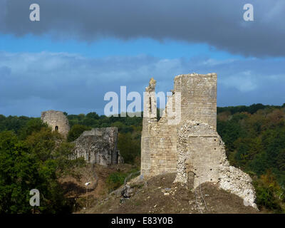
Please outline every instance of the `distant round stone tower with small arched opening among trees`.
[{"label": "distant round stone tower with small arched opening among trees", "polygon": [[41,120],[51,126],[52,130],[58,131],[64,137],[67,137],[69,131],[69,123],[66,115],[61,111],[48,110],[41,113]]}]

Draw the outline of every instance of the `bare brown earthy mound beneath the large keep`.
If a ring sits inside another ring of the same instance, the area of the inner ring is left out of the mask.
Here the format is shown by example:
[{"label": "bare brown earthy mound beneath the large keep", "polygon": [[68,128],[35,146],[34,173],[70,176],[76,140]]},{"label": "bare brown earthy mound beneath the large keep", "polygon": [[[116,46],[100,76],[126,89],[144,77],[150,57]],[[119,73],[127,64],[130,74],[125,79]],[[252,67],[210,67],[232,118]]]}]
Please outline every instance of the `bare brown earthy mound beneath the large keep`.
[{"label": "bare brown earthy mound beneath the large keep", "polygon": [[147,182],[136,178],[81,213],[260,213],[212,183],[195,191],[173,185],[173,180],[175,174],[159,175]]}]

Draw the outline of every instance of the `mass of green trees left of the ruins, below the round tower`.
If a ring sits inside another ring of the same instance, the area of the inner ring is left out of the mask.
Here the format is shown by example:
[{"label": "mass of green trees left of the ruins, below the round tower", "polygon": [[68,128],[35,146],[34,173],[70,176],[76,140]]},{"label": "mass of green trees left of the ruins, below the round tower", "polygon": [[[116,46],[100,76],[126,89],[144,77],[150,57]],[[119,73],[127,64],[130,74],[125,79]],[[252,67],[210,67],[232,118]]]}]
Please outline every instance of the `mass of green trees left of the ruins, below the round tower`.
[{"label": "mass of green trees left of the ruins, below the round tower", "polygon": [[[8,117],[4,123],[10,120],[0,133],[0,213],[31,213],[32,189],[41,196],[36,212],[72,212],[73,204],[64,197],[58,178],[73,175],[74,167],[84,161],[70,160],[73,145],[38,118]],[[12,131],[14,123],[23,125]]]}]

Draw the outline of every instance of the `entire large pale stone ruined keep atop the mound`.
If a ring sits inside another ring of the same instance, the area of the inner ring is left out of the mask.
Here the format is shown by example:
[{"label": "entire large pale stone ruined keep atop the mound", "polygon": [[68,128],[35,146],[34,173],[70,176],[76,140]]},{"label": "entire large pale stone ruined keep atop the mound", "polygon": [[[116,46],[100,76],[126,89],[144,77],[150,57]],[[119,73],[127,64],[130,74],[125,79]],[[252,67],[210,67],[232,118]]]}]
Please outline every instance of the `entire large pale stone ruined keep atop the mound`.
[{"label": "entire large pale stone ruined keep atop the mound", "polygon": [[151,78],[145,88],[141,177],[176,172],[175,182],[194,188],[213,182],[257,208],[251,177],[229,165],[216,130],[217,74],[176,76],[158,121],[155,86]]}]

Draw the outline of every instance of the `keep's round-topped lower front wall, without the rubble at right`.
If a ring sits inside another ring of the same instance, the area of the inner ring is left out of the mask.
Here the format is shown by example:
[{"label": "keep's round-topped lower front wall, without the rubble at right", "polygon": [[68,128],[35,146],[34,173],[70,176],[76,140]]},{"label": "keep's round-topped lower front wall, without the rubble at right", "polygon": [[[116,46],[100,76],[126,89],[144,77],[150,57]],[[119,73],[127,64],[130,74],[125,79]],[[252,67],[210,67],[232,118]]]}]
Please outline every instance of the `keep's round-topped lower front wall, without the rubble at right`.
[{"label": "keep's round-topped lower front wall, without the rubble at right", "polygon": [[188,172],[195,175],[194,187],[203,182],[218,182],[219,164],[224,152],[220,144],[221,140],[212,126],[186,120],[178,133],[175,182],[186,184]]}]

